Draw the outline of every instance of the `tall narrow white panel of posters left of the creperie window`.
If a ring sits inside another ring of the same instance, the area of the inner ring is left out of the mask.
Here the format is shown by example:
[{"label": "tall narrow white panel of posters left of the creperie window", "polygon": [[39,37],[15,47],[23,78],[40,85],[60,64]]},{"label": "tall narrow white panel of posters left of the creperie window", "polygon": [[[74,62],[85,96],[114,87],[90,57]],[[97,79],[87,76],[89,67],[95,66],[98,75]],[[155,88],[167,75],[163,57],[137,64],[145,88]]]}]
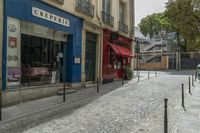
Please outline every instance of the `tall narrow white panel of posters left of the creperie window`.
[{"label": "tall narrow white panel of posters left of the creperie window", "polygon": [[8,17],[7,85],[20,85],[20,20]]}]

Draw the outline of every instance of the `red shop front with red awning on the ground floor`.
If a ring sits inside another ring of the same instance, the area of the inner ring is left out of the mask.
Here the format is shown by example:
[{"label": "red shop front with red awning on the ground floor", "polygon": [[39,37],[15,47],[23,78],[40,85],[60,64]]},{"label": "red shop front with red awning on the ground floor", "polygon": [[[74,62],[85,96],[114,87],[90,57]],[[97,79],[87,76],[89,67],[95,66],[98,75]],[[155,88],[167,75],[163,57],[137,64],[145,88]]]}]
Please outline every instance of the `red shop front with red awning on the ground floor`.
[{"label": "red shop front with red awning on the ground floor", "polygon": [[131,65],[132,39],[104,29],[103,32],[103,83],[123,77],[125,66]]}]

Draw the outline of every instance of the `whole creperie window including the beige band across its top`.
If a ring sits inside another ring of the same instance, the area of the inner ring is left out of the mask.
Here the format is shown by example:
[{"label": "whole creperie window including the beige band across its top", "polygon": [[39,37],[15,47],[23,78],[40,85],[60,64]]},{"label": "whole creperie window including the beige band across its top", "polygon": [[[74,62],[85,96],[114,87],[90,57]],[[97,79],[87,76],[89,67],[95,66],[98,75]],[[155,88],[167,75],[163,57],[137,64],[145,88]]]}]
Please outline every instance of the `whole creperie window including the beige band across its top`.
[{"label": "whole creperie window including the beige band across its top", "polygon": [[21,21],[21,85],[63,81],[63,47],[67,34]]}]

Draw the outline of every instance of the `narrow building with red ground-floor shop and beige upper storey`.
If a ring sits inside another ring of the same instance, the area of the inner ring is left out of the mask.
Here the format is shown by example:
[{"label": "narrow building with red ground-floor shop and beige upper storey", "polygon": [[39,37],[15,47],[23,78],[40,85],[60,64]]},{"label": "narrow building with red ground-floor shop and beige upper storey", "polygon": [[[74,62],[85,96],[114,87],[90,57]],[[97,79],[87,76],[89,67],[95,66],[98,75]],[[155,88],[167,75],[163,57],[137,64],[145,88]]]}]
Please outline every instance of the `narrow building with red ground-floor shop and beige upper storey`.
[{"label": "narrow building with red ground-floor shop and beige upper storey", "polygon": [[103,82],[124,76],[132,66],[134,3],[132,0],[102,0]]}]

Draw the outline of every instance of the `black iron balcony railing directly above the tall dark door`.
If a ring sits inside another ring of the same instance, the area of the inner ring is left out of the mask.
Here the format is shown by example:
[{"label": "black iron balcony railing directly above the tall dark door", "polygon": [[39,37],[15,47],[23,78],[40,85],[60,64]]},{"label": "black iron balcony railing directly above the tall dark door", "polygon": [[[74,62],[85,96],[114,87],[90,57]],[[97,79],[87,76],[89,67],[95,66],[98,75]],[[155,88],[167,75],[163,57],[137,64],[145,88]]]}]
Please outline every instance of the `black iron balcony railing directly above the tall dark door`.
[{"label": "black iron balcony railing directly above the tall dark door", "polygon": [[90,2],[87,2],[86,0],[77,0],[76,10],[94,17],[94,5],[92,5]]}]

